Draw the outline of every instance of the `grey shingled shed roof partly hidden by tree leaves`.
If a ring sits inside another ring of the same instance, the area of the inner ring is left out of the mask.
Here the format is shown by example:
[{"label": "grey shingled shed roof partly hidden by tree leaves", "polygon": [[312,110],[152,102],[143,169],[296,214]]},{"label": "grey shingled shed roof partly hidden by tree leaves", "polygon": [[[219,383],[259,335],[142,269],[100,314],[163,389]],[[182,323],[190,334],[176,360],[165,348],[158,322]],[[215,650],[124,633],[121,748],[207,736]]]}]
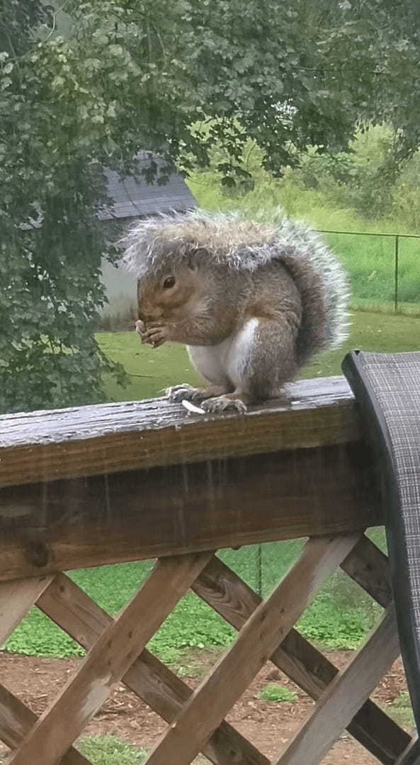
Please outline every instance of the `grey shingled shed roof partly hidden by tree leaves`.
[{"label": "grey shingled shed roof partly hidden by tree leaves", "polygon": [[[157,163],[158,168],[163,164],[159,158],[151,157],[146,152],[142,152],[138,159],[140,170],[149,167],[150,159]],[[156,182],[147,184],[145,178],[141,181],[136,181],[134,177],[122,178],[108,169],[105,169],[105,174],[108,177],[108,196],[114,204],[99,213],[101,220],[137,218],[170,210],[190,210],[197,206],[183,177],[175,172],[164,186]]]}]

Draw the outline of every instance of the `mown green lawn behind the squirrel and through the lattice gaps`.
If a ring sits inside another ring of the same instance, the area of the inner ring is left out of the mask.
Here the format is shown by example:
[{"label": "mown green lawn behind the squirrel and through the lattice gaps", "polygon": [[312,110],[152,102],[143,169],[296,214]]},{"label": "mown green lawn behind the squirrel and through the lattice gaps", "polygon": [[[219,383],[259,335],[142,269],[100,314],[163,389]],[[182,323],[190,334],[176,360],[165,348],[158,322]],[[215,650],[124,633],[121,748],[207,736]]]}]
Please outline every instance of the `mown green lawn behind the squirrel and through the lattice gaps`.
[{"label": "mown green lawn behind the squirrel and through the lattice gaps", "polygon": [[[157,396],[166,386],[177,382],[195,382],[183,347],[165,345],[157,350],[142,346],[134,332],[100,334],[99,343],[110,356],[124,364],[130,373],[125,389],[108,384],[110,399],[144,399]],[[361,348],[376,351],[420,349],[420,318],[357,312],[352,317],[351,337],[340,350],[318,356],[303,373],[305,377],[340,373],[347,350]],[[384,544],[383,532],[373,537]],[[221,558],[254,588],[262,584],[263,594],[273,588],[296,559],[302,542],[275,542],[263,545],[261,563],[257,545],[221,552]],[[150,571],[150,562],[75,571],[73,579],[111,614],[134,594]],[[311,640],[335,647],[355,647],[373,624],[378,608],[357,585],[338,572],[305,611],[300,629]],[[178,604],[150,642],[150,648],[167,662],[182,662],[189,647],[225,646],[234,630],[194,594]],[[34,609],[10,636],[7,648],[20,653],[69,656],[82,653],[58,627]]]}]

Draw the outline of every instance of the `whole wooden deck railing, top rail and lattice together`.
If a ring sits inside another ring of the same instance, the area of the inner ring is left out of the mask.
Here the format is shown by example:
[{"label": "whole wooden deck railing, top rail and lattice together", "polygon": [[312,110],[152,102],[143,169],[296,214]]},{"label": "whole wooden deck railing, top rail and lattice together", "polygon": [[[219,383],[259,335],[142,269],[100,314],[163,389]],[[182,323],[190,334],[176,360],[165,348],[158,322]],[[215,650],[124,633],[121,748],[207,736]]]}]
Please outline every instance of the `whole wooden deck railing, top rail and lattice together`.
[{"label": "whole wooden deck railing, top rail and lattice together", "polygon": [[[247,415],[187,415],[163,399],[0,418],[0,642],[33,604],[89,649],[36,718],[0,685],[13,765],[87,763],[72,747],[124,682],[170,723],[152,765],[269,765],[225,721],[269,659],[318,700],[273,763],[318,763],[347,728],[382,763],[409,734],[369,698],[399,653],[386,556],[363,534],[383,521],[370,453],[342,378],[297,382]],[[215,552],[308,537],[267,601]],[[63,571],[157,558],[112,619]],[[385,608],[338,672],[293,625],[341,565]],[[239,631],[194,692],[146,645],[192,587]]]}]

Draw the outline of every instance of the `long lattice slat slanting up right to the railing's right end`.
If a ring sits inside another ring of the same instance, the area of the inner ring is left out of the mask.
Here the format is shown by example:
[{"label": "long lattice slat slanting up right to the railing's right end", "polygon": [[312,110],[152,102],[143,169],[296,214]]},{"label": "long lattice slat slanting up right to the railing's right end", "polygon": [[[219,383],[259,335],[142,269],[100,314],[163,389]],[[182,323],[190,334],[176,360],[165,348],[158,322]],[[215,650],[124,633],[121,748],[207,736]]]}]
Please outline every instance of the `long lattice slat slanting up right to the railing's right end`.
[{"label": "long lattice slat slanting up right to the railing's right end", "polygon": [[[356,535],[310,539],[299,560],[261,603],[211,674],[195,690],[147,758],[148,765],[186,765],[245,691],[325,579],[357,542]],[[304,760],[302,760],[304,761]]]}]

